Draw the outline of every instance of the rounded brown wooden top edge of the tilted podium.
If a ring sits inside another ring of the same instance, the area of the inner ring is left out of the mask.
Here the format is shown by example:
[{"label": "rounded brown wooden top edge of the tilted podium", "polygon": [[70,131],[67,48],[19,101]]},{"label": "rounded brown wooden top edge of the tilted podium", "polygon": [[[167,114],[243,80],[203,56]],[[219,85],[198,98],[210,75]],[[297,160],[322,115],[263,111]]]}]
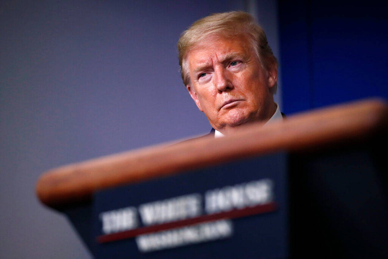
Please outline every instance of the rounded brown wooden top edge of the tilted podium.
[{"label": "rounded brown wooden top edge of the tilted podium", "polygon": [[90,202],[94,191],[177,174],[232,159],[303,151],[373,136],[388,126],[388,105],[380,99],[332,106],[284,121],[244,126],[231,136],[166,143],[74,163],[45,172],[38,198],[53,208]]}]

